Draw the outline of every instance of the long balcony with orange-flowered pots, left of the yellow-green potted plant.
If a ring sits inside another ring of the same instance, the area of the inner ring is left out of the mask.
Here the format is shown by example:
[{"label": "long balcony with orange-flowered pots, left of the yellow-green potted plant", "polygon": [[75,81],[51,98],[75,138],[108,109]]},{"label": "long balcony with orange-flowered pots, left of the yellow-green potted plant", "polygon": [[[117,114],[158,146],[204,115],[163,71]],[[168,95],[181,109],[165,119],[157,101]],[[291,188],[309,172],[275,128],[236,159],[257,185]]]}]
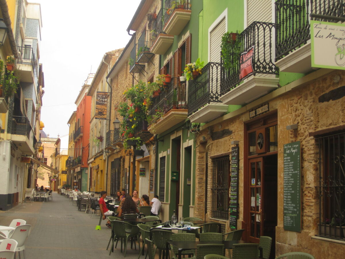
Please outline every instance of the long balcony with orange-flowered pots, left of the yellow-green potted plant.
[{"label": "long balcony with orange-flowered pots, left of the yellow-green potted plant", "polygon": [[186,85],[174,86],[172,81],[169,75],[158,75],[152,83],[160,89],[148,107],[148,131],[152,134],[160,134],[187,118]]}]

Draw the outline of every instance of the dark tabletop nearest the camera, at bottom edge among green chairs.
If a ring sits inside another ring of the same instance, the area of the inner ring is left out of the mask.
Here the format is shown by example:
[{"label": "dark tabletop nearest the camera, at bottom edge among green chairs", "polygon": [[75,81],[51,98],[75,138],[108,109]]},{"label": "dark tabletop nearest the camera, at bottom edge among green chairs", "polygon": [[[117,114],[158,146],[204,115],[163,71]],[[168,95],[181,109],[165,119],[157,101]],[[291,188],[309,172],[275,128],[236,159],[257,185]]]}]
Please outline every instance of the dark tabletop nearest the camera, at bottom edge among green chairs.
[{"label": "dark tabletop nearest the camera, at bottom edge among green chairs", "polygon": [[224,244],[225,249],[233,249],[233,244],[248,243],[243,240],[235,241],[168,241],[166,247],[166,258],[168,258],[169,244],[178,249],[178,259],[181,259],[182,251],[196,249],[198,244]]}]

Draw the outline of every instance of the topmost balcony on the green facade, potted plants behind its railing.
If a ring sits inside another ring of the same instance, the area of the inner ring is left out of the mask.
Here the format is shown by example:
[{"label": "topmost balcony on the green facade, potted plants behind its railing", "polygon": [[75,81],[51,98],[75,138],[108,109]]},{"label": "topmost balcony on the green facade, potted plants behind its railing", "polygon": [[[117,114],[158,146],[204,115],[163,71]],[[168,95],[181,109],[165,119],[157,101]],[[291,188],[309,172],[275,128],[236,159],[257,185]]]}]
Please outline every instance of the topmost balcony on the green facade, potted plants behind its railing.
[{"label": "topmost balcony on the green facade, potted plants behind its railing", "polygon": [[166,0],[163,31],[167,34],[179,35],[190,20],[190,6],[188,0]]}]

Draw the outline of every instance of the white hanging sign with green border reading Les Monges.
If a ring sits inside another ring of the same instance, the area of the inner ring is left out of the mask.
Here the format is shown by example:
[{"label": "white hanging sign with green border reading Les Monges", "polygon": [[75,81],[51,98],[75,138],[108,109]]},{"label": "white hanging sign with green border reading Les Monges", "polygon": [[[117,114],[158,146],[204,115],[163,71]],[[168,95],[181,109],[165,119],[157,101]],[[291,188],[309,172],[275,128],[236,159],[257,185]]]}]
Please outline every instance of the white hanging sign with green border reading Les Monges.
[{"label": "white hanging sign with green border reading Les Monges", "polygon": [[311,21],[312,67],[345,69],[345,24]]}]

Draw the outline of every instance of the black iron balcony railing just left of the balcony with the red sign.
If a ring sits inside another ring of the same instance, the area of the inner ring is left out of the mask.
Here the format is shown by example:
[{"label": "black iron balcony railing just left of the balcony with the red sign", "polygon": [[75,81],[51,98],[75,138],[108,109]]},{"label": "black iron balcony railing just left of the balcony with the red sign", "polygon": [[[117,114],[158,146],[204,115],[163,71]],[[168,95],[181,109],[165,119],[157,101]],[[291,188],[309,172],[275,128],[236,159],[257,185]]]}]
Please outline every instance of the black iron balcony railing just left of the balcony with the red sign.
[{"label": "black iron balcony railing just left of the balcony with the red sign", "polygon": [[201,69],[200,75],[188,81],[188,116],[205,104],[221,102],[220,70],[220,63],[209,62]]}]

